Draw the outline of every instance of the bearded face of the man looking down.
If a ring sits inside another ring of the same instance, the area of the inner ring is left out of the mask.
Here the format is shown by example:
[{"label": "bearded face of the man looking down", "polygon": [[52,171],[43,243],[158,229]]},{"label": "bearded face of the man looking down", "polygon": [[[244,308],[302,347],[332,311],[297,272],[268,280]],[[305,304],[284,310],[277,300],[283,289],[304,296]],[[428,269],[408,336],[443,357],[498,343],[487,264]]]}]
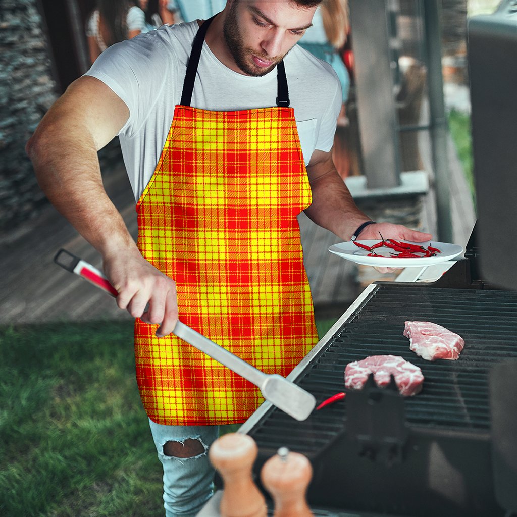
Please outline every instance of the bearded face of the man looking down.
[{"label": "bearded face of the man looking down", "polygon": [[272,70],[312,24],[315,10],[289,0],[231,0],[223,34],[238,68],[255,76]]}]

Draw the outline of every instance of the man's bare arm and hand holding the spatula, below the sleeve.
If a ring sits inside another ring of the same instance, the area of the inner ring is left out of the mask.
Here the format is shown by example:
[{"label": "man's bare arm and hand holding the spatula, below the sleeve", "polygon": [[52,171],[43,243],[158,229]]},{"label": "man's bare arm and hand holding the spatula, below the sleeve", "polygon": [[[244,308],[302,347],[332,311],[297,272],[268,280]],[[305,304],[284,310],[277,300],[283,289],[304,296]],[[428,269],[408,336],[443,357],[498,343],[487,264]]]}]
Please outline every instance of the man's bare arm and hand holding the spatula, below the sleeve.
[{"label": "man's bare arm and hand holding the spatula, below the sleeve", "polygon": [[175,284],[140,254],[104,190],[97,157],[128,117],[126,104],[108,86],[82,77],[43,117],[26,149],[45,195],[101,253],[104,272],[119,293],[118,306],[148,323],[162,323],[159,332],[165,335],[177,320]]}]

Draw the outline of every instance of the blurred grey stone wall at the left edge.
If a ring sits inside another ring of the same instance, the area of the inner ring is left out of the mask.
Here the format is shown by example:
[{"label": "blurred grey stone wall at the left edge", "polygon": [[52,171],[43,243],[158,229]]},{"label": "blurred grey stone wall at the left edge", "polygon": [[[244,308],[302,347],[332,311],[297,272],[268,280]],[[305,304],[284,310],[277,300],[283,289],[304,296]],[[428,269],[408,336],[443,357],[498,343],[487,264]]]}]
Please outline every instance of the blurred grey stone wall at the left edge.
[{"label": "blurred grey stone wall at the left edge", "polygon": [[0,232],[45,204],[25,143],[57,98],[36,0],[0,3]]}]

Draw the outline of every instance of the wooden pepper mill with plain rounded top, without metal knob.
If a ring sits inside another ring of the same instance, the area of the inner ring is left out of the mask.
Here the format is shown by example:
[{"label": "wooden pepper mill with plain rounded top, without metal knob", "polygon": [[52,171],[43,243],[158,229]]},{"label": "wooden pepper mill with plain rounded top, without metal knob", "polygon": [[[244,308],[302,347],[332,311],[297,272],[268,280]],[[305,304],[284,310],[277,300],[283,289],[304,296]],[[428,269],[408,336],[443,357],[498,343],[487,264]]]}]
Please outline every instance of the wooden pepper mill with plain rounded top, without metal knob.
[{"label": "wooden pepper mill with plain rounded top, without metal knob", "polygon": [[266,517],[266,500],[251,474],[257,452],[255,441],[246,434],[225,434],[211,445],[208,458],[224,483],[221,517]]}]

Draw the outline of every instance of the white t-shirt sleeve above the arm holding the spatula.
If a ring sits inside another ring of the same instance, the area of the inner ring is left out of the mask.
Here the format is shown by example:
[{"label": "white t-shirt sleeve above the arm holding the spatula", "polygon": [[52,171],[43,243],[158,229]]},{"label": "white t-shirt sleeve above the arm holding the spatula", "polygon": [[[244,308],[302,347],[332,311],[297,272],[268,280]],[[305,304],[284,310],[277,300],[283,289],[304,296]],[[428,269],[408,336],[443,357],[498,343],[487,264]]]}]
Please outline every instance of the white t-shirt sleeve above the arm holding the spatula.
[{"label": "white t-shirt sleeve above the arm holding the spatula", "polygon": [[162,93],[174,56],[156,41],[156,31],[109,47],[85,75],[107,85],[125,102],[129,118],[121,128],[130,137],[144,124]]}]

